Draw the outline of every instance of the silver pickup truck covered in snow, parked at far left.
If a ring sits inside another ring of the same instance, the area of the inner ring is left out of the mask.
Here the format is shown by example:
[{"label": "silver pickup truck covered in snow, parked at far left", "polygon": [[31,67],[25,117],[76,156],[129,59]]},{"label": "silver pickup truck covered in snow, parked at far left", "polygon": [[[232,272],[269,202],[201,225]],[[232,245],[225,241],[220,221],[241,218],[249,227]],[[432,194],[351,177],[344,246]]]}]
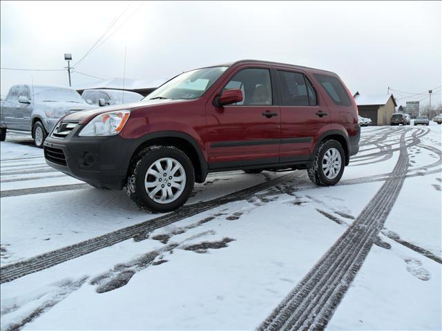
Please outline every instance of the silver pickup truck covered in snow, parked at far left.
[{"label": "silver pickup truck covered in snow, parked at far left", "polygon": [[28,131],[35,146],[43,147],[48,132],[66,114],[95,108],[72,88],[43,85],[15,85],[0,107],[0,140],[6,130]]}]

